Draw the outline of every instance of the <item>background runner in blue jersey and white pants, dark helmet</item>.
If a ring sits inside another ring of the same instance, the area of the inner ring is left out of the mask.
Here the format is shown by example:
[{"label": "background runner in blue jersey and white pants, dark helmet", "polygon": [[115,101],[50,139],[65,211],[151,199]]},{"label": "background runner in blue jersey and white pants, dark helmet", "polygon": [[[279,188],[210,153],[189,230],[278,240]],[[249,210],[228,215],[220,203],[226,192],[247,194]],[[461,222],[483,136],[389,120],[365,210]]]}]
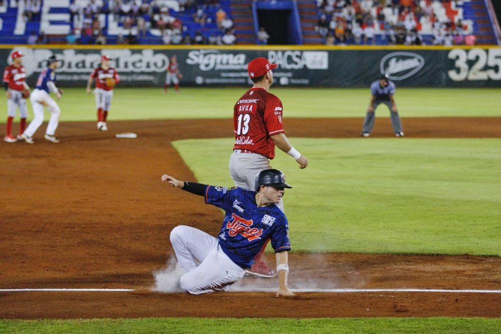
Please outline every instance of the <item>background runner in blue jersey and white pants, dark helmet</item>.
[{"label": "background runner in blue jersey and white pants, dark helmet", "polygon": [[61,109],[50,95],[50,92],[53,92],[56,94],[58,100],[63,95],[63,91],[56,87],[55,71],[58,67],[59,60],[56,56],[51,56],[49,60],[47,60],[47,68],[40,73],[36,88],[30,96],[35,118],[21,135],[29,144],[34,143],[33,135],[44,122],[44,106],[51,112],[51,118],[49,120],[49,124],[47,125],[44,138],[52,142],[59,142],[59,139],[54,136],[54,133],[59,125],[59,115],[61,115]]}]

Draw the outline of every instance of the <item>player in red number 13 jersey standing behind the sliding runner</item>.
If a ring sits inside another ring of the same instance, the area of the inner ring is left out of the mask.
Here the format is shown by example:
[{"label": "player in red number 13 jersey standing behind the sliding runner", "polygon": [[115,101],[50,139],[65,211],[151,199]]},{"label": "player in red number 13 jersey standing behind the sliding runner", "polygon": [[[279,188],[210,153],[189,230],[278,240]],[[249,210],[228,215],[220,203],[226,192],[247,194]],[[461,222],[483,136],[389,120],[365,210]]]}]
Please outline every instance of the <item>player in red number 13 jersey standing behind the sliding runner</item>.
[{"label": "player in red number 13 jersey standing behind the sliding runner", "polygon": [[[269,93],[273,84],[271,65],[266,58],[256,58],[247,66],[254,86],[242,95],[233,108],[235,144],[229,158],[229,174],[237,187],[255,190],[256,175],[271,168],[275,146],[291,155],[300,168],[308,166],[308,159],[295,149],[284,133],[283,106],[280,99]],[[278,207],[284,211],[282,200]],[[277,272],[261,259],[268,241],[254,258],[252,268],[246,272],[261,277],[274,277]]]}]

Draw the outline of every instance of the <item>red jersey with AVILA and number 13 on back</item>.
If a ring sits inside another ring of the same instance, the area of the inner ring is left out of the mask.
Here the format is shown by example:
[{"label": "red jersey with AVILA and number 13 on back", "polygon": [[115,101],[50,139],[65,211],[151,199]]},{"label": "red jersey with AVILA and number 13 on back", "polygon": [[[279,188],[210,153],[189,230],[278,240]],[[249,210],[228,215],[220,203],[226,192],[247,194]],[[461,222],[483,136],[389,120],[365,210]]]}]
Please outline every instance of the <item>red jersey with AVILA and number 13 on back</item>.
[{"label": "red jersey with AVILA and number 13 on back", "polygon": [[245,149],[269,159],[275,157],[271,136],[284,132],[282,102],[263,88],[251,88],[233,108],[233,149]]}]

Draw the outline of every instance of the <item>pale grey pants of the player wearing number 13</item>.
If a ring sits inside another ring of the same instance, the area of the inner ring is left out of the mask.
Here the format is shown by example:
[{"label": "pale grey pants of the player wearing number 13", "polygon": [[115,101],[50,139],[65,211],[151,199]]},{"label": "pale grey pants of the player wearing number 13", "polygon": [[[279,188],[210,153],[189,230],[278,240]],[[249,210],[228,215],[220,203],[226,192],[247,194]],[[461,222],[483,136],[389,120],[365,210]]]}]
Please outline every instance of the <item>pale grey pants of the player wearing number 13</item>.
[{"label": "pale grey pants of the player wearing number 13", "polygon": [[[270,160],[261,154],[242,153],[240,149],[235,149],[229,157],[229,176],[238,188],[255,191],[256,176],[271,168]],[[285,212],[282,199],[277,206]]]}]

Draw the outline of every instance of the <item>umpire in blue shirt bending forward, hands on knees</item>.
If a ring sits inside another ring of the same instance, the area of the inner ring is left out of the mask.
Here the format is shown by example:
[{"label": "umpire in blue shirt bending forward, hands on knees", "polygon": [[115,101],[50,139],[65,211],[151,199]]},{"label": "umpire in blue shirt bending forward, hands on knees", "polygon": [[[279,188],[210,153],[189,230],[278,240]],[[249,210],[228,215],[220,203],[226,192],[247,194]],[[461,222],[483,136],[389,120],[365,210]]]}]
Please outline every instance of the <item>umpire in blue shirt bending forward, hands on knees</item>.
[{"label": "umpire in blue shirt bending forward, hands on knees", "polygon": [[372,128],[374,127],[375,114],[374,110],[380,103],[384,103],[390,109],[391,124],[393,125],[393,132],[397,137],[403,137],[402,122],[398,115],[397,104],[393,98],[395,94],[395,84],[393,81],[388,80],[386,76],[382,76],[379,80],[371,84],[371,102],[367,108],[367,115],[365,116],[364,126],[361,135],[364,137],[370,136]]}]

